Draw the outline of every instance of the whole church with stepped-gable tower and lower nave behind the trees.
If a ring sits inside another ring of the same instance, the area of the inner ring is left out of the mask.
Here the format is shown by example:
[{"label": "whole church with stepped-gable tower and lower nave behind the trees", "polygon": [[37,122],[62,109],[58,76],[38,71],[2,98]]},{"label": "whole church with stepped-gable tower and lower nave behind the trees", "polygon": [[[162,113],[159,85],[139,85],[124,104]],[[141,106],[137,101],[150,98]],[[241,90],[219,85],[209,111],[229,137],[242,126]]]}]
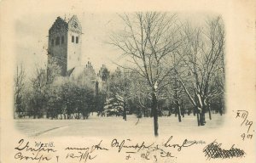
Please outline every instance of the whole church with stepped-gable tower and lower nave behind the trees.
[{"label": "whole church with stepped-gable tower and lower nave behind the trees", "polygon": [[97,87],[97,90],[102,89],[109,75],[108,69],[102,65],[101,70],[96,74],[90,61],[81,64],[82,34],[82,25],[76,15],[71,19],[57,17],[49,28],[48,70],[53,69],[50,64],[54,61],[61,68],[60,76],[69,77],[74,82],[90,87]]}]

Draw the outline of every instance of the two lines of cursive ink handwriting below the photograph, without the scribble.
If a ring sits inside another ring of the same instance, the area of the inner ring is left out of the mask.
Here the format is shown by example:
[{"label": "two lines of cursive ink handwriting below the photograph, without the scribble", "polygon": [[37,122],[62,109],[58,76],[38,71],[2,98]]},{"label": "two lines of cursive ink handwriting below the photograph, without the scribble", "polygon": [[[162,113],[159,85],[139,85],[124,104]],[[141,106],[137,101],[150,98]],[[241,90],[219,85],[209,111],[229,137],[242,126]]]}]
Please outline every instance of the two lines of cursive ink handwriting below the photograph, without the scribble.
[{"label": "two lines of cursive ink handwriting below the photograph, without the scribble", "polygon": [[189,148],[192,145],[202,143],[205,142],[202,140],[189,141],[188,139],[183,139],[183,141],[177,143],[172,136],[165,139],[162,143],[147,143],[147,141],[135,142],[130,138],[113,138],[108,142],[108,146],[103,144],[102,140],[89,146],[66,146],[64,148],[65,155],[61,157],[54,149],[54,142],[35,142],[35,145],[31,146],[29,141],[20,139],[18,145],[15,147],[15,150],[17,150],[15,160],[25,160],[26,162],[38,161],[38,163],[41,161],[87,163],[90,160],[95,160],[99,155],[105,155],[105,152],[111,149],[116,154],[125,154],[125,160],[136,160],[140,158],[142,160],[152,161],[172,161],[177,158],[175,156],[177,152],[181,152],[184,148]]}]

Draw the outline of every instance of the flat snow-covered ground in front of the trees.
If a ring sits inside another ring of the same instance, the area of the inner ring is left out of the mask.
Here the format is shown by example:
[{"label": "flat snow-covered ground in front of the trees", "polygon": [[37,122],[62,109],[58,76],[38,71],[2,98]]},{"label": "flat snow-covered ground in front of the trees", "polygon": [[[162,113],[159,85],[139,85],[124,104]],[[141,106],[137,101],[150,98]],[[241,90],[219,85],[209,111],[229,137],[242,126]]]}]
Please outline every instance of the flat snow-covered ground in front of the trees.
[{"label": "flat snow-covered ground in front of the trees", "polygon": [[[185,115],[182,122],[177,117],[159,117],[159,133],[191,133],[207,131],[222,126],[224,115],[212,114],[212,121],[206,114],[206,126],[197,126],[196,116]],[[136,115],[127,115],[127,121],[119,117],[98,117],[90,115],[87,120],[48,120],[48,119],[20,119],[15,120],[16,128],[28,137],[112,137],[153,135],[153,118],[137,119]],[[207,129],[207,130],[206,130]]]}]

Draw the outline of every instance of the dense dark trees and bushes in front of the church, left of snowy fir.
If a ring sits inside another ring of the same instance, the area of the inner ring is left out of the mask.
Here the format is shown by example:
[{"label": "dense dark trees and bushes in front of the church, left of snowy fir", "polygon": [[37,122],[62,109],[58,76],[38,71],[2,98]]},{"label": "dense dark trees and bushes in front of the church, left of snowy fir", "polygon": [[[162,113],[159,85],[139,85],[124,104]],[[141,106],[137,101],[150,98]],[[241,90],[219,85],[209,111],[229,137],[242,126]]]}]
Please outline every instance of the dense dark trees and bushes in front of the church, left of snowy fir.
[{"label": "dense dark trees and bushes in front of the church, left of snowy fir", "polygon": [[51,63],[50,66],[48,73],[44,69],[36,69],[34,76],[27,82],[24,70],[17,68],[16,117],[87,119],[91,112],[103,111],[106,94],[97,90],[96,82],[86,84],[58,76],[58,65]]}]

